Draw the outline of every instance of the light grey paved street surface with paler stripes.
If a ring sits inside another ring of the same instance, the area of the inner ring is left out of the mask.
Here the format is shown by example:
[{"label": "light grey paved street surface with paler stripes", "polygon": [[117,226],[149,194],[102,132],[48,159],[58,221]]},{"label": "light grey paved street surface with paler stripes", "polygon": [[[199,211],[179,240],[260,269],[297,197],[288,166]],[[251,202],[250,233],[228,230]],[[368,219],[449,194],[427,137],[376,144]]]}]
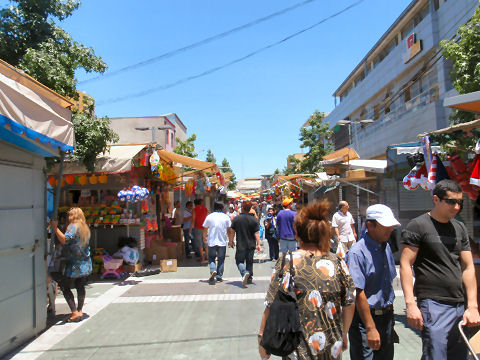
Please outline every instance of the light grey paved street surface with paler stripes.
[{"label": "light grey paved street surface with paler stripes", "polygon": [[[176,273],[91,284],[84,307],[88,318],[65,324],[57,316],[57,323],[8,358],[258,359],[256,334],[274,264],[255,264],[254,284],[243,288],[234,251],[227,254],[225,280],[215,285],[207,281],[208,267],[195,259]],[[419,359],[421,341],[405,326],[404,305],[397,297],[395,358]],[[60,295],[57,314],[62,312],[68,308]],[[349,359],[348,351],[343,358]]]}]

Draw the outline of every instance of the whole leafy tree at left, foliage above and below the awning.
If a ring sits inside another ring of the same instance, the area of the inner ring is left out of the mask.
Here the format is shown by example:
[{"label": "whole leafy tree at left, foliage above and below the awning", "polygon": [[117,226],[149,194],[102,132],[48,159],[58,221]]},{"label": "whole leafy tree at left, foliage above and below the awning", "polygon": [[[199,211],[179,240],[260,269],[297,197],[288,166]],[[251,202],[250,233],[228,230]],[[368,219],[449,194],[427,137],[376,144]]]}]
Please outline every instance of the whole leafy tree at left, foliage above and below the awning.
[{"label": "whole leafy tree at left, foliage above and below the awning", "polygon": [[[104,72],[107,65],[93,49],[76,41],[57,26],[80,6],[78,0],[11,0],[0,9],[0,58],[24,70],[60,95],[78,99],[75,71]],[[73,111],[76,149],[74,158],[89,171],[107,144],[118,141],[109,119],[97,119],[93,99],[80,113]]]}]

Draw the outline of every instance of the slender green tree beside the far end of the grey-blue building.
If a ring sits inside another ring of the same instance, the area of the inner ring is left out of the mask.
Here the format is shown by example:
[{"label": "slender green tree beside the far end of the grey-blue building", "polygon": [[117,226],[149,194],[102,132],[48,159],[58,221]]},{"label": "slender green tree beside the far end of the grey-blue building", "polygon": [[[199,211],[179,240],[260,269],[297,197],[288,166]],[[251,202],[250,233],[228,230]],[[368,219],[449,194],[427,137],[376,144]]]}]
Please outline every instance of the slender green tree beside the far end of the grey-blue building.
[{"label": "slender green tree beside the far end of the grey-blue building", "polygon": [[302,142],[300,147],[308,149],[305,158],[300,162],[299,172],[313,174],[322,170],[318,165],[323,156],[332,152],[330,137],[332,131],[325,121],[325,113],[315,110],[308,118],[307,126],[300,129],[300,138]]}]

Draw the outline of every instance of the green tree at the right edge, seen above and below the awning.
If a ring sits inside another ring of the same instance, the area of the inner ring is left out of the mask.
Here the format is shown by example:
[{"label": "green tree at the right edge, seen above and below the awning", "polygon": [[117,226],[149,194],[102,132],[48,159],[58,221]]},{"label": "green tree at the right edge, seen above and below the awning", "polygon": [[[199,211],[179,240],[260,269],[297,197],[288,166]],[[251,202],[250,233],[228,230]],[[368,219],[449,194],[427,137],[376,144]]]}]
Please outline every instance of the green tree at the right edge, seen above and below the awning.
[{"label": "green tree at the right edge, seen above and below the awning", "polygon": [[[480,6],[477,7],[469,22],[459,27],[456,39],[440,42],[445,58],[453,63],[450,77],[453,86],[460,94],[480,90]],[[460,124],[475,119],[475,114],[466,111],[453,110],[450,116],[451,124]],[[475,143],[480,135],[465,136],[462,131],[432,136],[432,140],[445,147],[447,152],[452,149],[463,149],[465,154],[474,152]]]}]

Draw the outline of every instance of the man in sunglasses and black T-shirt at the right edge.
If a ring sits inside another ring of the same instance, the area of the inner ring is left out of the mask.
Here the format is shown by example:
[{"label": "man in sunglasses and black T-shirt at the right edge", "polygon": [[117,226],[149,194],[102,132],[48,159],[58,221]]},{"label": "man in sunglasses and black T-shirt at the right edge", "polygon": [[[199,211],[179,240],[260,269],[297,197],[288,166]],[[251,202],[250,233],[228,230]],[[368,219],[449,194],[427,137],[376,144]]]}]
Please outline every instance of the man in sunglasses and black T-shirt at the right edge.
[{"label": "man in sunglasses and black T-shirt at the right edge", "polygon": [[457,325],[463,321],[477,326],[480,316],[467,229],[454,219],[463,205],[460,186],[451,180],[438,182],[433,203],[432,211],[410,221],[402,232],[400,277],[407,320],[422,331],[422,359],[463,360],[467,347]]}]

